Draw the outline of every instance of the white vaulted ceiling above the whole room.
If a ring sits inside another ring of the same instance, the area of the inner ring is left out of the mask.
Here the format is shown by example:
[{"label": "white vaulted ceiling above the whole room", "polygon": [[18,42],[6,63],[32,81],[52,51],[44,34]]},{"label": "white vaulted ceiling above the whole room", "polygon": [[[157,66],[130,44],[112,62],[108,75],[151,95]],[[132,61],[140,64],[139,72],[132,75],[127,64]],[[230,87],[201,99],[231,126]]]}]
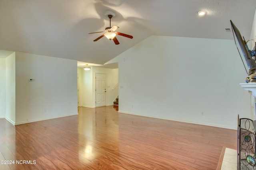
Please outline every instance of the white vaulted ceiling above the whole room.
[{"label": "white vaulted ceiling above the whole room", "polygon": [[[133,39],[93,41],[108,10]],[[255,10],[256,0],[0,0],[0,49],[104,64],[150,35],[233,39],[230,20],[249,39]]]}]

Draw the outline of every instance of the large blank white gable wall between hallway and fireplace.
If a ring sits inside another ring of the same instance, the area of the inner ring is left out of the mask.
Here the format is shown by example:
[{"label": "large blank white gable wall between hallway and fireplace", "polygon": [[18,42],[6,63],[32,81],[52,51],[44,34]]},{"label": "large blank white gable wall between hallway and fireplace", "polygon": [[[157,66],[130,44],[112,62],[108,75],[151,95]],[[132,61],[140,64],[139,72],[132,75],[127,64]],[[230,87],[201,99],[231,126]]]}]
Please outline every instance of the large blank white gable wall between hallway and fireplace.
[{"label": "large blank white gable wall between hallway and fireplace", "polygon": [[233,40],[148,37],[110,61],[119,112],[236,129],[238,114],[251,118],[240,60]]}]

